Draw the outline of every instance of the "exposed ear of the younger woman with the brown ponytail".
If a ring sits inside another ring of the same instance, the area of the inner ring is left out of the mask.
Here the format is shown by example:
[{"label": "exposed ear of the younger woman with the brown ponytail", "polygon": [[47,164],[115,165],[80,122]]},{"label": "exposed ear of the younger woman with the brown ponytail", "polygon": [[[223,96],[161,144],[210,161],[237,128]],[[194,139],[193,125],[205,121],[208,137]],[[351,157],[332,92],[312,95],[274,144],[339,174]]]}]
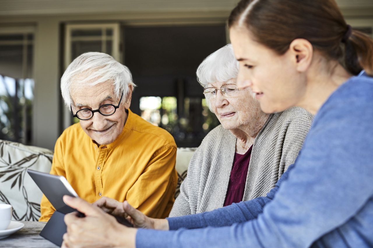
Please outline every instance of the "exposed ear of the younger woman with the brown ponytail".
[{"label": "exposed ear of the younger woman with the brown ponytail", "polygon": [[297,71],[307,71],[313,57],[312,44],[306,39],[294,39],[294,41],[290,43],[289,53]]}]

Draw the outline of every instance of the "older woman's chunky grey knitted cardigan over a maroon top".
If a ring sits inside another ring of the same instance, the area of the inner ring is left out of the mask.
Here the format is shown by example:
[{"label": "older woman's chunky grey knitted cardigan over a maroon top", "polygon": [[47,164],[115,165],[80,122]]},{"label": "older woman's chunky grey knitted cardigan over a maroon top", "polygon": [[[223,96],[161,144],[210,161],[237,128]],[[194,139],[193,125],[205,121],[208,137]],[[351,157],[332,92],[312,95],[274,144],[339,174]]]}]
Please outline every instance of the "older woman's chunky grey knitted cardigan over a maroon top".
[{"label": "older woman's chunky grey knitted cardigan over a maroon top", "polygon": [[[243,200],[266,195],[294,163],[313,115],[293,107],[270,115],[251,152]],[[236,137],[222,125],[203,139],[188,166],[170,217],[223,207],[236,149]]]}]

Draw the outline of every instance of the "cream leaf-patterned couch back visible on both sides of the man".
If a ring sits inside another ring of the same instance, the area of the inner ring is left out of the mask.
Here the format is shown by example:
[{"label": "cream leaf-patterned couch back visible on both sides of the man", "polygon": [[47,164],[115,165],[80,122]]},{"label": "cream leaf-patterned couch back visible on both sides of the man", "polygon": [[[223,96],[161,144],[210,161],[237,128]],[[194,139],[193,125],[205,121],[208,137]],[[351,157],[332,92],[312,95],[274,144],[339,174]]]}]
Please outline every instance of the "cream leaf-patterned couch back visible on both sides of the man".
[{"label": "cream leaf-patterned couch back visible on both sides of the man", "polygon": [[[176,170],[178,186],[175,197],[179,194],[181,182],[186,177],[189,160],[195,148],[178,148],[176,153]],[[0,140],[0,203],[13,206],[13,220],[37,221],[40,217],[40,200],[42,193],[27,174],[27,169],[49,172],[53,152],[35,146]]]}]

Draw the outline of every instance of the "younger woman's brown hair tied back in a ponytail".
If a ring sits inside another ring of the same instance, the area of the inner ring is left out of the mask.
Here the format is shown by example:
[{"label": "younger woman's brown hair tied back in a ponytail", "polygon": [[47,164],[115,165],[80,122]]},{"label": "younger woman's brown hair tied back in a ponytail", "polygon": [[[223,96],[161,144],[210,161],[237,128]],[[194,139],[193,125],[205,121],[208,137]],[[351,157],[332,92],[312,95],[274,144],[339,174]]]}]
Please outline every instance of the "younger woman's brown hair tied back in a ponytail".
[{"label": "younger woman's brown hair tied back in a ponytail", "polygon": [[373,76],[373,39],[351,30],[334,0],[241,0],[228,19],[229,28],[235,25],[279,55],[303,38],[350,73]]}]

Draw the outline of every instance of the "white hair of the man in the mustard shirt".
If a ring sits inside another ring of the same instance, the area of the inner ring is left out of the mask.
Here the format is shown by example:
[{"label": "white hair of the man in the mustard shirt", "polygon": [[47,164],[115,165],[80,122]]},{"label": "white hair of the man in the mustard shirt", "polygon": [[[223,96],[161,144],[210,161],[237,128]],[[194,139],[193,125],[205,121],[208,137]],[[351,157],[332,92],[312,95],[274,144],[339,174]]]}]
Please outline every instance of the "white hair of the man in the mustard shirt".
[{"label": "white hair of the man in the mustard shirt", "polygon": [[[99,83],[112,82],[117,98],[123,93],[126,99],[129,85],[135,87],[132,82],[131,71],[123,66],[112,56],[105,53],[89,52],[75,58],[68,66],[61,78],[61,93],[66,106],[72,104],[73,90],[79,90],[84,86],[94,86]],[[72,87],[74,85],[75,87]],[[78,86],[78,87],[76,87]]]}]

